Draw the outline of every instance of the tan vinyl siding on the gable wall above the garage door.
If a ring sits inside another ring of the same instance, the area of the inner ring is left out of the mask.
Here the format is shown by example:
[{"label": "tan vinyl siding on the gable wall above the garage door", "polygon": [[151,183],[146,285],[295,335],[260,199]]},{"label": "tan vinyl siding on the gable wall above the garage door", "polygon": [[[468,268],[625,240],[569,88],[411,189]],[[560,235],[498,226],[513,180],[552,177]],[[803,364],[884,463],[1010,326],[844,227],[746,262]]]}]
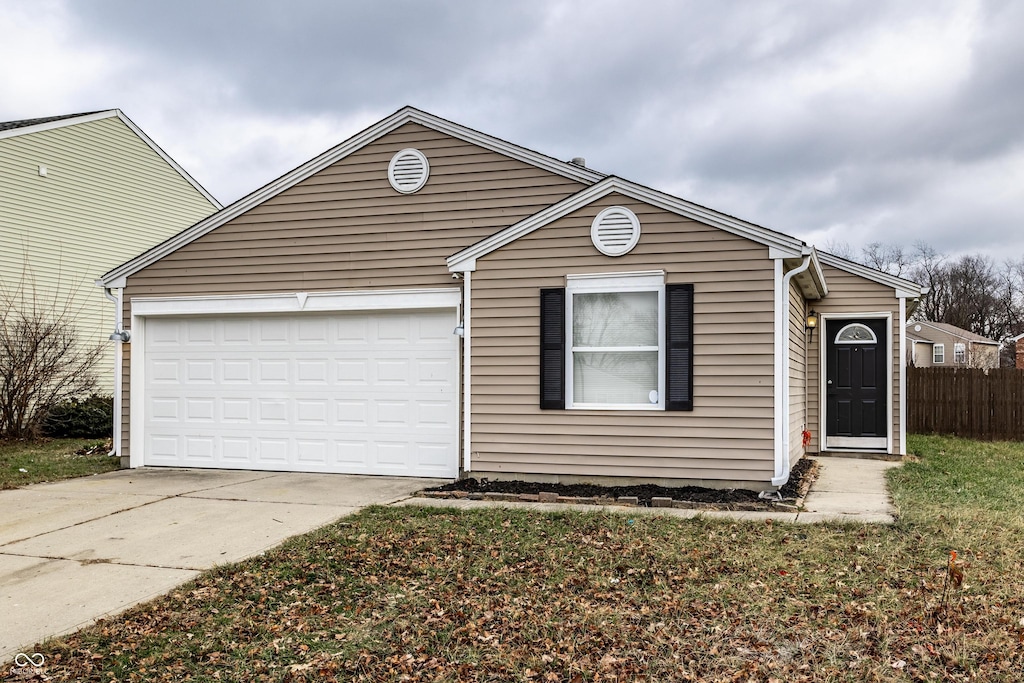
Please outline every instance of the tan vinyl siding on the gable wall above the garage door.
[{"label": "tan vinyl siding on the gable wall above the garage door", "polygon": [[[430,162],[413,195],[387,180],[406,147]],[[450,288],[447,256],[583,186],[407,124],[131,275],[126,298]]]}]

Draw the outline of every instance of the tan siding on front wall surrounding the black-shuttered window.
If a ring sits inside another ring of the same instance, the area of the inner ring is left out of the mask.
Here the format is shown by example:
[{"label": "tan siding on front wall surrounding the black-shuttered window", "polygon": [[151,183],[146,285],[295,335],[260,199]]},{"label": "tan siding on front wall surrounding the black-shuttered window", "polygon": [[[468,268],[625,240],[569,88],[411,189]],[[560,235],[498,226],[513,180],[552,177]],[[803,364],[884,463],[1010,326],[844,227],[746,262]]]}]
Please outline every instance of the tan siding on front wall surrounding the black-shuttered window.
[{"label": "tan siding on front wall surrounding the black-shuttered window", "polygon": [[[640,243],[600,254],[590,225],[624,205]],[[539,296],[565,275],[664,269],[694,286],[693,412],[542,411]],[[741,480],[773,473],[773,280],[766,247],[609,196],[481,258],[472,274],[472,468]]]}]

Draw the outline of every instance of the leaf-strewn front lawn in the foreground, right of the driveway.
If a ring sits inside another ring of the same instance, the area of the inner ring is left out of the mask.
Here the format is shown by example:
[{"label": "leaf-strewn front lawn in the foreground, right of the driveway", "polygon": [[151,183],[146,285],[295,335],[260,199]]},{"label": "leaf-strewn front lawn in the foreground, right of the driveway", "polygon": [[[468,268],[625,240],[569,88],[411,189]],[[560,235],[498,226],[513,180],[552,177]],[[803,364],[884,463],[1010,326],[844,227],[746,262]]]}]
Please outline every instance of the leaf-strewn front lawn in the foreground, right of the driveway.
[{"label": "leaf-strewn front lawn in the foreground, right of the driveway", "polygon": [[36,675],[1019,681],[1024,446],[911,447],[892,527],[369,509],[51,641]]}]

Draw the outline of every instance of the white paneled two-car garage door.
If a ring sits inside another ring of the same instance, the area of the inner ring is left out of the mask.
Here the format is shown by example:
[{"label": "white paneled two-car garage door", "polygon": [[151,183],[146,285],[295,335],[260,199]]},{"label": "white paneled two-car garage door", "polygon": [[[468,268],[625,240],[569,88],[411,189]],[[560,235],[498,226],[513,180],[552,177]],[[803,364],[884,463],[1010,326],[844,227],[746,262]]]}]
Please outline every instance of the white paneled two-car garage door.
[{"label": "white paneled two-car garage door", "polygon": [[150,317],[151,466],[455,477],[455,312]]}]

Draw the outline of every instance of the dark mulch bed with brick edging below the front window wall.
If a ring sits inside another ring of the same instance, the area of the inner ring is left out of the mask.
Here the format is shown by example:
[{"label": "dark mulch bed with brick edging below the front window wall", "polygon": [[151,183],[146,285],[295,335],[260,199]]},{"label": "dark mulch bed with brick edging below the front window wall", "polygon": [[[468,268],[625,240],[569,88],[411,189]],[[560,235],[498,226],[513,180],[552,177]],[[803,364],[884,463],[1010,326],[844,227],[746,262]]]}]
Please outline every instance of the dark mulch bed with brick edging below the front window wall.
[{"label": "dark mulch bed with brick edging below the front window wall", "polygon": [[493,481],[459,479],[442,486],[425,488],[429,498],[460,498],[490,501],[582,503],[590,505],[636,505],[641,507],[697,508],[709,510],[779,510],[794,508],[803,499],[817,475],[817,461],[802,458],[793,468],[790,481],[779,488],[781,500],[758,497],[745,488],[705,488],[703,486],[600,486],[535,481]]}]

